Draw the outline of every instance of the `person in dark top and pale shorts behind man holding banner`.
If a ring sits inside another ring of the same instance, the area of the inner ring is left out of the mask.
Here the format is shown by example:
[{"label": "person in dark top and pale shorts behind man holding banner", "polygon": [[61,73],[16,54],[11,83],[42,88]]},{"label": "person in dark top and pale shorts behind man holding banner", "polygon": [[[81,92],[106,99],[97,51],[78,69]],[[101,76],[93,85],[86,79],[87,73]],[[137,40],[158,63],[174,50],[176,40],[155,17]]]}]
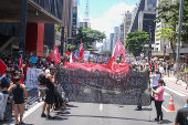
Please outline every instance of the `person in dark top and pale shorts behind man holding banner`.
[{"label": "person in dark top and pale shorts behind man holding banner", "polygon": [[41,93],[42,93],[42,101],[44,101],[45,91],[46,91],[46,83],[45,83],[45,67],[42,69],[42,72],[38,74],[38,102],[40,102]]}]

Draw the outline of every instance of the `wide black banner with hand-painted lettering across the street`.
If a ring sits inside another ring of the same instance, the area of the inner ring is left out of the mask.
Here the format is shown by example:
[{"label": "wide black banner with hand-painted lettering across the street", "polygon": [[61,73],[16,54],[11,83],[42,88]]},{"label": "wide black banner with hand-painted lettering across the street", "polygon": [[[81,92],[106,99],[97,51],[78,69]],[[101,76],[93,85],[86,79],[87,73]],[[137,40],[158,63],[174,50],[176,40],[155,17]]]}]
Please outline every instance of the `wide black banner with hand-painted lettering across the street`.
[{"label": "wide black banner with hand-painted lettering across the street", "polygon": [[143,105],[150,103],[148,71],[87,72],[56,66],[56,83],[71,102]]}]

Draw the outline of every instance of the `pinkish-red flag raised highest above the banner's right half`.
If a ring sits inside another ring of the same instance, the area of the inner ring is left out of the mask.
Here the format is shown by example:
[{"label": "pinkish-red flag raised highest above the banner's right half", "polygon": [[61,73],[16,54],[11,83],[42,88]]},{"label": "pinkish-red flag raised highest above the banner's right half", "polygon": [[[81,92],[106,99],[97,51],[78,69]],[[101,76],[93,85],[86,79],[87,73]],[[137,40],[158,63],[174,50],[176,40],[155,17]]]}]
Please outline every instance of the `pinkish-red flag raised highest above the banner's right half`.
[{"label": "pinkish-red flag raised highest above the banner's right half", "polygon": [[114,48],[114,51],[113,51],[113,54],[112,56],[114,56],[114,59],[116,59],[117,56],[119,56],[121,54],[123,54],[124,56],[124,61],[125,61],[125,49],[124,46],[122,45],[121,41],[118,40],[115,48]]}]

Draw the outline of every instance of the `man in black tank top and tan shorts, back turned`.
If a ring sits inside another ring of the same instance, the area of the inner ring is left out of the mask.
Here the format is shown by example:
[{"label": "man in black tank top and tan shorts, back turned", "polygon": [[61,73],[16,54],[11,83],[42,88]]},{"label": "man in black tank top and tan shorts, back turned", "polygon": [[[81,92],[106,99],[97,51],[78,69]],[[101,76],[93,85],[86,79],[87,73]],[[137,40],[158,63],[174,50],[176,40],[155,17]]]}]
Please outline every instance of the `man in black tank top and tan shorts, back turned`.
[{"label": "man in black tank top and tan shorts, back turned", "polygon": [[[28,103],[28,92],[27,92],[25,85],[20,83],[19,76],[14,76],[13,80],[15,81],[15,84],[11,85],[8,88],[8,93],[10,93],[11,91],[13,93],[13,105],[12,105],[13,114],[12,115],[14,115],[15,125],[19,125],[19,122],[18,122],[18,113],[19,112],[20,112],[20,124],[24,124],[22,118],[23,118],[23,114],[24,114],[24,103]],[[24,102],[24,97],[23,97],[23,92],[24,92],[24,96],[27,98],[25,102]]]}]

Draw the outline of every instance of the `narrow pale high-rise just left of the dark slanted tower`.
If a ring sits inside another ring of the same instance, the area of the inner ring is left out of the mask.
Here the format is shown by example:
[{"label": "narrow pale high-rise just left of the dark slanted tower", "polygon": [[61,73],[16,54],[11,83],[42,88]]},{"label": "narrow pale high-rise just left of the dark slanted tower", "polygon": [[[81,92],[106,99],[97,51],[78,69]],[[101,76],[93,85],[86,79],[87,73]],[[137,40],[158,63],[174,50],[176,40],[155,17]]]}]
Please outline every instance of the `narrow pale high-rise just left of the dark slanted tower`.
[{"label": "narrow pale high-rise just left of the dark slanted tower", "polygon": [[126,35],[128,33],[128,29],[129,29],[130,23],[132,23],[132,15],[133,14],[129,11],[125,12],[125,17],[124,17],[124,41],[126,40]]}]

